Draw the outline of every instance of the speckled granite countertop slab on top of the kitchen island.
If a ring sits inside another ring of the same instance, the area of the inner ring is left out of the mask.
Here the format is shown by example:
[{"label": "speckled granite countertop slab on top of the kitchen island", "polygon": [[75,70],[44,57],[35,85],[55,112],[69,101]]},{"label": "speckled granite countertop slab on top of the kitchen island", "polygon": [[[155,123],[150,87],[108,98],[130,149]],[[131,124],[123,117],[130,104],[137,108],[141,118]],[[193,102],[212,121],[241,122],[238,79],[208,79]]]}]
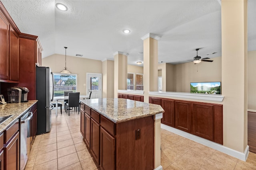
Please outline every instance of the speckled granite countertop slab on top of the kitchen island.
[{"label": "speckled granite countertop slab on top of the kitchen island", "polygon": [[164,109],[160,105],[123,98],[86,99],[80,101],[114,123],[164,113]]}]

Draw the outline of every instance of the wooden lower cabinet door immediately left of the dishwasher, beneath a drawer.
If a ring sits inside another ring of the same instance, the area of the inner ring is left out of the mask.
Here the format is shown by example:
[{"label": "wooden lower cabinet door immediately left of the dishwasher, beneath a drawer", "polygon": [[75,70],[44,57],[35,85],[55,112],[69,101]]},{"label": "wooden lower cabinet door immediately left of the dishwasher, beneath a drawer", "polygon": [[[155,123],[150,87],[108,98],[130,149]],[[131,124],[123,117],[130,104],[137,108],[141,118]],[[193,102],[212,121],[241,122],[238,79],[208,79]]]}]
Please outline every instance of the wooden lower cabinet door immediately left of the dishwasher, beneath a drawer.
[{"label": "wooden lower cabinet door immediately left of the dishwasher, beneath a drawer", "polygon": [[7,143],[4,147],[5,169],[6,170],[19,170],[20,167],[20,151],[19,151],[19,132]]}]

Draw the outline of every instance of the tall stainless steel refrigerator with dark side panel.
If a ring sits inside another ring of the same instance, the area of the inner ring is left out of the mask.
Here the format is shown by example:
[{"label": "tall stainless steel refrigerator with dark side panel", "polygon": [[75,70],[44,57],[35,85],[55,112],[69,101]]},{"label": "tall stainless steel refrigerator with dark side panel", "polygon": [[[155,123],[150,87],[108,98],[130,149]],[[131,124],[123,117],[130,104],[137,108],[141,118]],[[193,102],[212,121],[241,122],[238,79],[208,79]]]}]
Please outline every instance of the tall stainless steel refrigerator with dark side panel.
[{"label": "tall stainless steel refrigerator with dark side panel", "polygon": [[36,67],[37,135],[52,127],[53,76],[49,67]]}]

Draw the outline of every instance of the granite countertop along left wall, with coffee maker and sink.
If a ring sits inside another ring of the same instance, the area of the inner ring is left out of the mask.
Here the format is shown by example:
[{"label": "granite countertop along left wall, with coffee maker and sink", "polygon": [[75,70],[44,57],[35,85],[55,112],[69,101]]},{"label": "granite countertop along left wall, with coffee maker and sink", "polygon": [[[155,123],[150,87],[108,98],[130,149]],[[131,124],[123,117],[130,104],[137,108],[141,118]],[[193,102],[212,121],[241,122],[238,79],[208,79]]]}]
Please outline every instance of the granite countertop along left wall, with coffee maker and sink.
[{"label": "granite countertop along left wall, with coffee maker and sink", "polygon": [[37,100],[30,100],[24,103],[10,103],[0,105],[0,116],[13,115],[6,121],[0,124],[0,133],[2,133],[8,126],[12,125],[22,114],[26,113],[31,106],[36,104]]}]

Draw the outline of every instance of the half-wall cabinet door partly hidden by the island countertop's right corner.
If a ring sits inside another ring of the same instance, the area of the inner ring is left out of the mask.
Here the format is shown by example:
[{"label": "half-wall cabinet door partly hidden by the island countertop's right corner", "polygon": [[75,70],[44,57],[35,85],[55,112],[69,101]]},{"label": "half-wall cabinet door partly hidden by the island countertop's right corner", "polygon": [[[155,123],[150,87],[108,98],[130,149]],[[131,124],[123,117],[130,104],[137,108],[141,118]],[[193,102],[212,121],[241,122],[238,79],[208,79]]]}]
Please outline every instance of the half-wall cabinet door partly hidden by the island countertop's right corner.
[{"label": "half-wall cabinet door partly hidden by the island countertop's right corner", "polygon": [[161,106],[164,109],[161,123],[174,127],[174,100],[162,99]]}]

